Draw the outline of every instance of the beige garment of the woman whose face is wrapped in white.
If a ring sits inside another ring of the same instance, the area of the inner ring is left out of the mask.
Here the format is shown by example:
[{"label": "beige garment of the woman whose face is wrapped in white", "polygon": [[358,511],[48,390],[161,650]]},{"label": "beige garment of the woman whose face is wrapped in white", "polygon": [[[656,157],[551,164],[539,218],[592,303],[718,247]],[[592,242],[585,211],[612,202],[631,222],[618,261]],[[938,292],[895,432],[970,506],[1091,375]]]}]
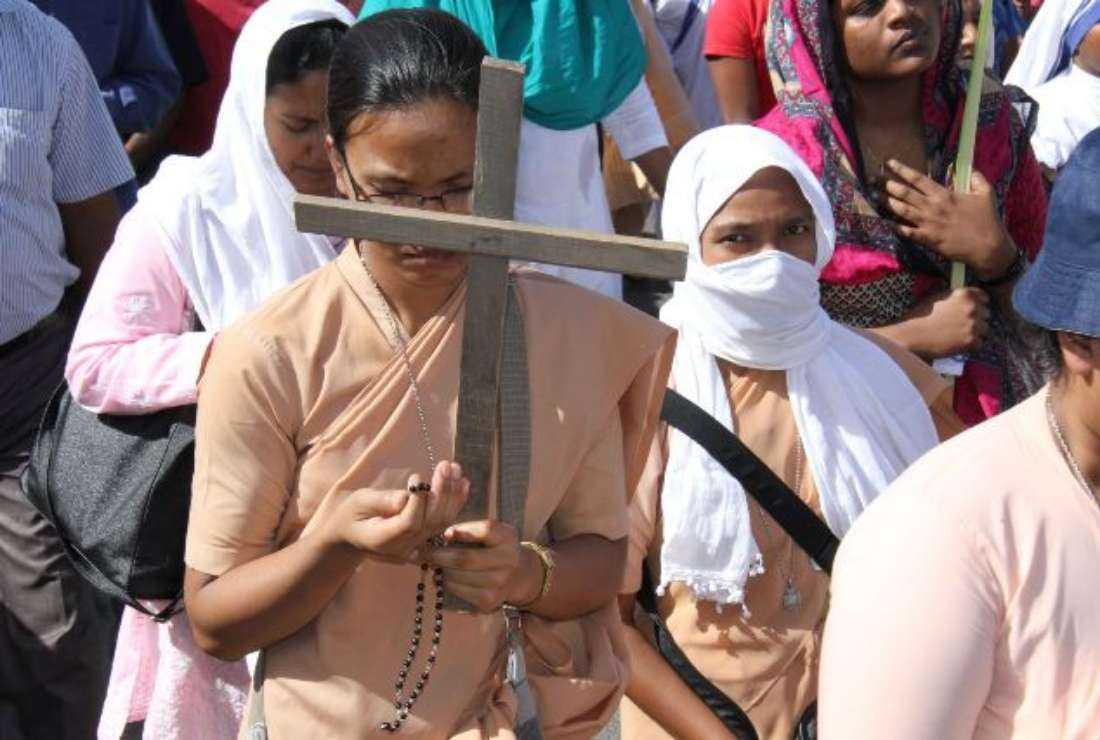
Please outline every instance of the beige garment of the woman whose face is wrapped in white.
[{"label": "beige garment of the woman whose face is wrapped in white", "polygon": [[[921,391],[941,439],[961,431],[950,407],[950,387],[931,367],[895,344],[861,332],[898,362]],[[809,472],[781,371],[735,368],[723,363],[730,406],[743,442],[818,515],[817,488]],[[625,594],[637,593],[641,563],[648,559],[654,579],[660,574],[660,492],[668,460],[667,430],[654,440],[646,472],[630,511],[630,554]],[[752,535],[766,572],[749,579],[745,603],[749,612],[711,601],[696,601],[682,584],[672,584],[658,599],[673,639],[692,663],[744,709],[761,738],[791,737],[799,718],[817,696],[817,661],[828,605],[828,576],[814,568],[779,524],[749,497]],[[783,607],[790,576],[801,595],[795,610]],[[651,629],[642,628],[644,634]],[[623,737],[669,737],[645,713],[623,702]]]}]

